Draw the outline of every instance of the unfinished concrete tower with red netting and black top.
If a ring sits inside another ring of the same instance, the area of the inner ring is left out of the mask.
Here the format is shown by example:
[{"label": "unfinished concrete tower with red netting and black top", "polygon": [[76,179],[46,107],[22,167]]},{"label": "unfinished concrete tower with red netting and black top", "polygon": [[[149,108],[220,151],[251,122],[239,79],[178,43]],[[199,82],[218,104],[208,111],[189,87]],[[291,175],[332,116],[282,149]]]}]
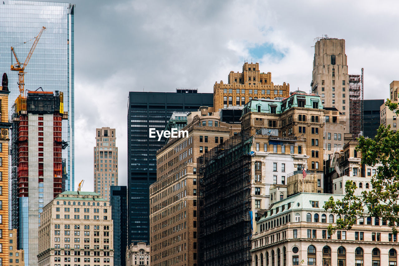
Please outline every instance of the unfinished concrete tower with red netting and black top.
[{"label": "unfinished concrete tower with red netting and black top", "polygon": [[13,105],[12,228],[25,261],[37,262],[40,213],[65,188],[61,123],[67,117],[59,91],[29,91]]}]

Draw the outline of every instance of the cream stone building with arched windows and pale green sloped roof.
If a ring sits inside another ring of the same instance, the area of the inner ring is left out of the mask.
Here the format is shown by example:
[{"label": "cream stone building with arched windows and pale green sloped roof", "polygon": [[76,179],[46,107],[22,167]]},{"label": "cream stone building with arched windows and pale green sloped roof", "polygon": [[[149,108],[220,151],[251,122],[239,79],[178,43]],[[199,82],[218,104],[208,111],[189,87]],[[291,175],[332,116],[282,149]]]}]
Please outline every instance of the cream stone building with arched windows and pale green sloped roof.
[{"label": "cream stone building with arched windows and pale green sloped roof", "polygon": [[251,265],[397,265],[397,234],[378,218],[359,218],[350,231],[327,233],[340,218],[323,208],[331,196],[343,197],[300,193],[273,205],[257,222]]}]

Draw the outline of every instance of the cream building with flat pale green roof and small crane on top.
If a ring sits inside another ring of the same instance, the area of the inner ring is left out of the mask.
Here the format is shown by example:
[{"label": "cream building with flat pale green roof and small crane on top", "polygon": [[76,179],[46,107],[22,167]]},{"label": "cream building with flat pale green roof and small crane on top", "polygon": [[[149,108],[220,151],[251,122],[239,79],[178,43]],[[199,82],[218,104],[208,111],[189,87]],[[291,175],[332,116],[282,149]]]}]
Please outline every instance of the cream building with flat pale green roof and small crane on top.
[{"label": "cream building with flat pale green roof and small crane on top", "polygon": [[65,191],[40,218],[39,266],[114,265],[111,206],[101,195]]}]

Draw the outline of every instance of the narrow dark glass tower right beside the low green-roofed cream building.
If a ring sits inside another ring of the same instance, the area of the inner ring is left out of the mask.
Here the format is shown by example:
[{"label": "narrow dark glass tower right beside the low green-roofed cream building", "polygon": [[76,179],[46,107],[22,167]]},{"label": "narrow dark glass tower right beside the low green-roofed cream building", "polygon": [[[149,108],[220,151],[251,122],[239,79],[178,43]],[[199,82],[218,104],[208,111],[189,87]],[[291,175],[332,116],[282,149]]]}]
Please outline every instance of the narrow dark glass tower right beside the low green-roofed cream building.
[{"label": "narrow dark glass tower right beside the low green-roofed cream building", "polygon": [[114,266],[126,265],[127,192],[126,186],[111,186],[111,211],[114,222]]}]

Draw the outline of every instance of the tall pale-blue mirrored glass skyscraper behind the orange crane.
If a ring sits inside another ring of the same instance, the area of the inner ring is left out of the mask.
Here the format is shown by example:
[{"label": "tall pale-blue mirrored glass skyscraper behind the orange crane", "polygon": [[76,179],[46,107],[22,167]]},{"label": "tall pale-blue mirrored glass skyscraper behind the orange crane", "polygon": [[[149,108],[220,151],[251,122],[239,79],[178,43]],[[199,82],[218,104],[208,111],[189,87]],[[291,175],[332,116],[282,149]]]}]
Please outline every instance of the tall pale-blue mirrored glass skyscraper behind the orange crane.
[{"label": "tall pale-blue mirrored glass skyscraper behind the orange crane", "polygon": [[[46,30],[25,67],[25,91],[42,87],[62,91],[68,119],[62,121],[62,139],[68,142],[62,151],[66,159],[65,189],[74,190],[74,11],[75,5],[59,2],[0,1],[0,69],[8,75],[9,110],[19,95],[18,71],[11,71],[11,46],[21,63],[25,62],[35,37]],[[26,42],[26,43],[24,43]],[[20,45],[19,45],[20,44]],[[25,92],[24,92],[25,93]]]}]

